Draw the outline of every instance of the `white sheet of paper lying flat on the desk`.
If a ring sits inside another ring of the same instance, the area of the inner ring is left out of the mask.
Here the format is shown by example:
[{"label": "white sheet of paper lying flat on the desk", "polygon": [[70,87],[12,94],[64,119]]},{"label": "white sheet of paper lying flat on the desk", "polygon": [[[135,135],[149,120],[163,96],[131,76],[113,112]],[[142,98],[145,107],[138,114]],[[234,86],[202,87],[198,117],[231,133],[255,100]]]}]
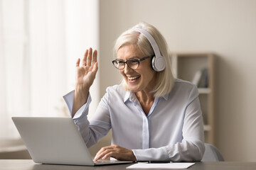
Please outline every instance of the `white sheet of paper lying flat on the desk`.
[{"label": "white sheet of paper lying flat on the desk", "polygon": [[167,164],[145,164],[138,163],[128,166],[127,169],[187,169],[195,163],[167,163]]}]

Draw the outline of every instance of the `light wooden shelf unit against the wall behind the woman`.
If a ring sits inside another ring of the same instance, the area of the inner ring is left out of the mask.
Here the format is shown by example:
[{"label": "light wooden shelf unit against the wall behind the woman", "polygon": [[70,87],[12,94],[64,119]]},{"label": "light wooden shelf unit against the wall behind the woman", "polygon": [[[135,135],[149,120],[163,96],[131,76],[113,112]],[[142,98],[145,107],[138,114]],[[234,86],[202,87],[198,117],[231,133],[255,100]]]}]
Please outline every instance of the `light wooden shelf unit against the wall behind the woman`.
[{"label": "light wooden shelf unit against the wall behind the woman", "polygon": [[174,77],[193,82],[196,73],[208,70],[208,85],[198,87],[199,100],[203,113],[205,142],[215,145],[214,135],[214,94],[215,94],[215,55],[211,52],[171,53]]}]

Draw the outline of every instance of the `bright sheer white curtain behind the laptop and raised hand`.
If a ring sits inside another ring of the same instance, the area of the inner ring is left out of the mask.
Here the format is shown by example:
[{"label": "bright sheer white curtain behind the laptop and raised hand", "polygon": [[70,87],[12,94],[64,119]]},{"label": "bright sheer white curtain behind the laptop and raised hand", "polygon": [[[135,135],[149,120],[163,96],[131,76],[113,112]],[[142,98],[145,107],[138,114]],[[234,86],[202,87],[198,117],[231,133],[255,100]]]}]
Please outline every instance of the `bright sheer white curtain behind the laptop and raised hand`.
[{"label": "bright sheer white curtain behind the laptop and raised hand", "polygon": [[98,39],[98,1],[0,0],[0,139],[19,137],[11,116],[68,116],[75,62]]}]

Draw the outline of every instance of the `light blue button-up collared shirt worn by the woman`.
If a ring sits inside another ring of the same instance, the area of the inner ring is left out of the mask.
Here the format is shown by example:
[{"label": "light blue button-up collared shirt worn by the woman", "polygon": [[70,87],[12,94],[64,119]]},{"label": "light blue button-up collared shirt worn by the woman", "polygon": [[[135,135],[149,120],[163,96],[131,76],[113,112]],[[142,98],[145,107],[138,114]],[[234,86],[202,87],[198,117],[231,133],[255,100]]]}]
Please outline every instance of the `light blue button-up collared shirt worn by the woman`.
[{"label": "light blue button-up collared shirt worn by the woman", "polygon": [[[64,96],[70,113],[74,91]],[[146,115],[137,97],[122,85],[110,86],[87,120],[91,97],[73,117],[87,147],[112,129],[112,144],[132,149],[137,161],[201,161],[205,150],[198,89],[176,79],[169,94],[155,98]]]}]

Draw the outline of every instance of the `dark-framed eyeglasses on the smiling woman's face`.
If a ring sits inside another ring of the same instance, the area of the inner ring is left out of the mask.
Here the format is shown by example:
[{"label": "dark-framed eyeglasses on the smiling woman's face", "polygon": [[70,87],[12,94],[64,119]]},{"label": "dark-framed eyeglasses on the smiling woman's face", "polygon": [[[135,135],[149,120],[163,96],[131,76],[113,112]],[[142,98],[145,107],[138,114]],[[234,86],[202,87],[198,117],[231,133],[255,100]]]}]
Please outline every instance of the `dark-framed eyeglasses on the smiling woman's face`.
[{"label": "dark-framed eyeglasses on the smiling woman's face", "polygon": [[[153,57],[153,56],[151,56]],[[123,60],[113,60],[112,63],[114,65],[114,67],[116,67],[117,69],[124,69],[125,67],[125,64],[127,64],[128,67],[130,67],[131,69],[137,69],[139,67],[139,64],[140,62],[142,62],[143,60],[146,60],[148,58],[151,58],[151,57],[144,57],[142,59],[129,59],[127,60],[126,62],[124,62]]]}]

